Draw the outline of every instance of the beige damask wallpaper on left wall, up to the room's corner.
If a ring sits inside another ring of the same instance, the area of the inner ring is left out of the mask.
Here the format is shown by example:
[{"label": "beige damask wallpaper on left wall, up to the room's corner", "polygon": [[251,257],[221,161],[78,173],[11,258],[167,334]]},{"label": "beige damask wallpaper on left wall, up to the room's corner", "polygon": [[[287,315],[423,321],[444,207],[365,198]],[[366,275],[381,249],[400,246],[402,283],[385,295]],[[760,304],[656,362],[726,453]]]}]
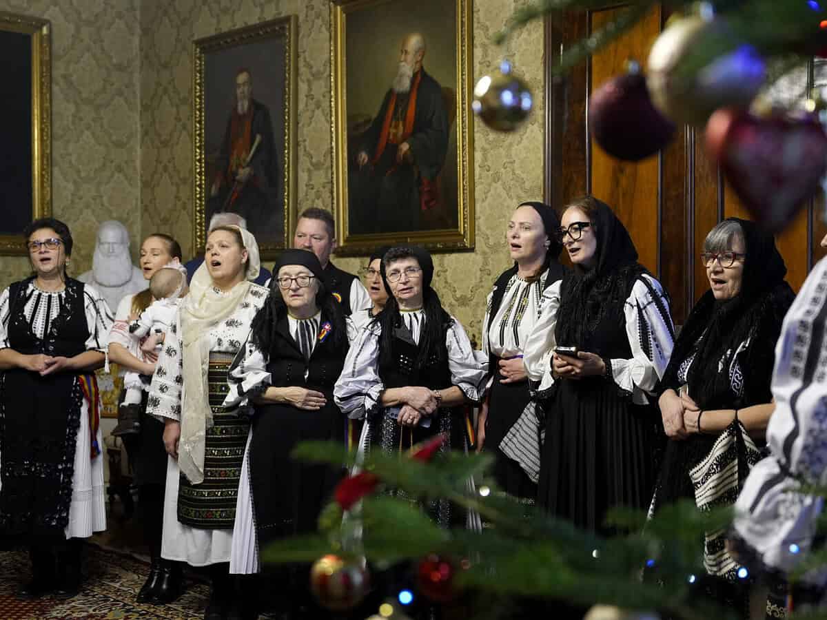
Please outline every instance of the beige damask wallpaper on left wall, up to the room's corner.
[{"label": "beige damask wallpaper on left wall, up to the room's corner", "polygon": [[[98,223],[123,222],[132,254],[141,236],[140,0],[0,0],[0,11],[51,21],[52,212],[74,236],[70,274],[92,265]],[[0,287],[30,271],[0,259]]]}]

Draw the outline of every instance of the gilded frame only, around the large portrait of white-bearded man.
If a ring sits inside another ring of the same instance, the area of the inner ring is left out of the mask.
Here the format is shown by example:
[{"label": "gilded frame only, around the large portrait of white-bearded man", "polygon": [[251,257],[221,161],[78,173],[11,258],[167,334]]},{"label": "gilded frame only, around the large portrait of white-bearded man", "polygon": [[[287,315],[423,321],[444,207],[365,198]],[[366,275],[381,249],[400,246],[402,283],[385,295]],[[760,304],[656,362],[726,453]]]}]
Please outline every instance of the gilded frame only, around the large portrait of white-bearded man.
[{"label": "gilded frame only, around the large portrait of white-bearded man", "polygon": [[[333,212],[337,222],[337,255],[367,255],[377,246],[395,243],[416,243],[430,250],[473,250],[474,219],[474,132],[471,118],[473,88],[473,45],[471,27],[472,0],[454,0],[457,4],[457,222],[451,229],[414,231],[410,233],[351,234],[348,217],[347,170],[347,15],[366,11],[380,3],[401,0],[332,0],[330,7],[332,68],[332,160]],[[449,2],[451,0],[448,0]],[[446,164],[449,165],[449,160]]]}]

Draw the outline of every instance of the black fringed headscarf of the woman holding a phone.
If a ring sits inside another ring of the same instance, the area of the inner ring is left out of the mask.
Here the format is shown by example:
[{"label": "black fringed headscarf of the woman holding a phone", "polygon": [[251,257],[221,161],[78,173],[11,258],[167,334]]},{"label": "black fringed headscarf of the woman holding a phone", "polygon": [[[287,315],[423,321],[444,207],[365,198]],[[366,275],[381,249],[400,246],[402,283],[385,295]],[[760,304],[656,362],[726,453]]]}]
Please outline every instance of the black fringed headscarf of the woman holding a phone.
[{"label": "black fringed headscarf of the woman holding a phone", "polygon": [[563,277],[555,336],[562,346],[600,355],[600,343],[593,341],[595,329],[607,316],[623,324],[626,298],[634,281],[647,272],[638,264],[638,250],[623,222],[609,205],[592,199],[596,206],[591,216],[597,237],[596,260],[591,269],[574,265]]}]

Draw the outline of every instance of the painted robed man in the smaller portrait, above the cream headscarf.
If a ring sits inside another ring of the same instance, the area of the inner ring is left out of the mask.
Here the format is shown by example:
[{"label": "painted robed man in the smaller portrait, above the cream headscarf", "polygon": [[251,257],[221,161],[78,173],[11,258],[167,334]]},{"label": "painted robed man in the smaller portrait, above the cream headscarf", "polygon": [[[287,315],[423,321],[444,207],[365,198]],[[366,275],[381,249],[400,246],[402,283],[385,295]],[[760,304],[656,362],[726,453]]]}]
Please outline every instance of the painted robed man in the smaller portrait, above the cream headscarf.
[{"label": "painted robed man in the smaller portrait, above the cream headscarf", "polygon": [[218,151],[218,172],[209,188],[208,215],[232,212],[244,217],[254,235],[280,236],[279,162],[273,122],[264,103],[252,97],[250,69],[236,74],[236,103]]}]

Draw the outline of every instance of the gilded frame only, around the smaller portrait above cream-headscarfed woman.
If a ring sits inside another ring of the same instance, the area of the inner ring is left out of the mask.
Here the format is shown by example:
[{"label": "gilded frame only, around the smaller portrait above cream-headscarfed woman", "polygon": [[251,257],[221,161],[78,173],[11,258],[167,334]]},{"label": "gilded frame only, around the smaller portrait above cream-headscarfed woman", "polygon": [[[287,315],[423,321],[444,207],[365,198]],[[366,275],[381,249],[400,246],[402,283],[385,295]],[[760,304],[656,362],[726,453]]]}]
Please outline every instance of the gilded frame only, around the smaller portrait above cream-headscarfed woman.
[{"label": "gilded frame only, around the smaller portrait above cream-headscarfed woman", "polygon": [[204,153],[204,76],[206,56],[212,52],[247,45],[265,39],[284,38],[284,150],[280,153],[284,162],[284,237],[277,243],[259,243],[261,258],[272,259],[279,250],[288,247],[290,232],[296,219],[296,36],[298,19],[295,15],[263,21],[253,26],[219,33],[193,41],[193,126],[194,126],[194,186],[193,186],[193,247],[203,252],[206,242],[204,221],[207,179]]}]

